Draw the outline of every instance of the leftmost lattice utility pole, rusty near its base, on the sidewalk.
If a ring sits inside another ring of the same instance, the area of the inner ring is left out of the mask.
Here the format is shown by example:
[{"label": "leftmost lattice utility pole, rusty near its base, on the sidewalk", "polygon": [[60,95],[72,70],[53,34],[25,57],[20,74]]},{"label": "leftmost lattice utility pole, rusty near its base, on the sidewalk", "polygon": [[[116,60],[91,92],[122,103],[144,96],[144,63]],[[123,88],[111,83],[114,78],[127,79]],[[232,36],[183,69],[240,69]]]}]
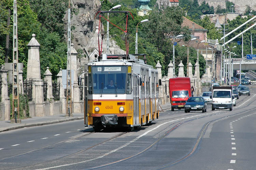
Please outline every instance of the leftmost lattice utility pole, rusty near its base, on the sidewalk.
[{"label": "leftmost lattice utility pole, rusty near its base, on the sidewalk", "polygon": [[[18,27],[17,0],[13,0],[13,64],[12,64],[12,120],[11,123],[21,123],[19,119],[19,69],[18,69]],[[14,101],[17,101],[17,108]],[[18,119],[16,117],[18,113]]]}]

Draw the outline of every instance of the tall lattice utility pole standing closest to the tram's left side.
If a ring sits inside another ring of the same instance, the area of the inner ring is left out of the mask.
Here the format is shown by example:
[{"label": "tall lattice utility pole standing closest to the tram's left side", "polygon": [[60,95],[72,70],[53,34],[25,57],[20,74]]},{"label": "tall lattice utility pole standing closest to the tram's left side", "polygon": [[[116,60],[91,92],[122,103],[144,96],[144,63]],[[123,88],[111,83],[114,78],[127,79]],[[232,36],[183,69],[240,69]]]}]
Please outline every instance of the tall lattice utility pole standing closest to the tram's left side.
[{"label": "tall lattice utility pole standing closest to the tram's left side", "polygon": [[[72,114],[72,82],[71,82],[71,28],[70,28],[70,0],[68,8],[68,59],[67,59],[67,89],[66,89],[66,116],[73,117]],[[70,92],[70,93],[69,93]],[[70,104],[68,103],[70,99]]]}]

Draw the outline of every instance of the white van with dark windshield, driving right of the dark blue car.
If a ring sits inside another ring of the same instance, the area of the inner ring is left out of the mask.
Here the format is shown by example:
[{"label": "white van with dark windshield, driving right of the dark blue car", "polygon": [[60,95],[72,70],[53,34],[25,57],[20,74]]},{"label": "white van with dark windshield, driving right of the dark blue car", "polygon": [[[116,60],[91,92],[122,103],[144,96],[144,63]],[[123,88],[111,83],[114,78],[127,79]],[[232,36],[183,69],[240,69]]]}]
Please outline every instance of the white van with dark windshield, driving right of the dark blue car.
[{"label": "white van with dark windshield, driving right of the dark blue car", "polygon": [[232,95],[232,87],[212,87],[212,110],[215,109],[229,109],[232,108],[234,96]]}]

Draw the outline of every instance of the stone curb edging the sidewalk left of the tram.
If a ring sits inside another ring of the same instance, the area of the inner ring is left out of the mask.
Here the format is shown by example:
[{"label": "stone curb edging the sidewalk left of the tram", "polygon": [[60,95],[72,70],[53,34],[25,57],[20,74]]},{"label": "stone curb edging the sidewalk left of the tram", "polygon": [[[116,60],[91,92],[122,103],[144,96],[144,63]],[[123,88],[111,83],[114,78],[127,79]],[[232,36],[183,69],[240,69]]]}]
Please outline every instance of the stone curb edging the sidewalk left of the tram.
[{"label": "stone curb edging the sidewalk left of the tram", "polygon": [[14,127],[8,127],[8,128],[5,128],[5,129],[0,129],[0,133],[1,132],[6,132],[6,131],[9,131],[9,130],[21,129],[21,128],[24,128],[24,127],[43,126],[43,125],[50,125],[50,124],[69,122],[69,121],[74,121],[74,120],[82,120],[82,119],[84,119],[84,117],[61,119],[61,120],[56,120],[56,121],[51,121],[51,122],[30,123],[30,124],[25,124],[25,125],[18,125],[18,126],[14,126]]}]

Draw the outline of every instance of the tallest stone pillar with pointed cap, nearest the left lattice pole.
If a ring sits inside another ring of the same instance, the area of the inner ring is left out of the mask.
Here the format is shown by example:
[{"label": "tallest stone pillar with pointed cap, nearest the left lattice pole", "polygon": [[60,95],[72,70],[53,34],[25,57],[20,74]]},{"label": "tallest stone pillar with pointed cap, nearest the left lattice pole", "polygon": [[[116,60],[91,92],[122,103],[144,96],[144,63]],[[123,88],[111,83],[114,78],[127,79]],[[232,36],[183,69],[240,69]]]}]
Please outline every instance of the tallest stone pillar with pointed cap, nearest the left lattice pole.
[{"label": "tallest stone pillar with pointed cap, nearest the left lattice pole", "polygon": [[[35,39],[35,34],[32,34],[32,38],[28,43],[28,65],[27,65],[27,79],[32,79],[32,101],[35,102],[35,115],[45,115],[45,103],[43,92],[43,80],[41,79],[40,71],[40,44]],[[33,116],[33,115],[31,115]]]}]

